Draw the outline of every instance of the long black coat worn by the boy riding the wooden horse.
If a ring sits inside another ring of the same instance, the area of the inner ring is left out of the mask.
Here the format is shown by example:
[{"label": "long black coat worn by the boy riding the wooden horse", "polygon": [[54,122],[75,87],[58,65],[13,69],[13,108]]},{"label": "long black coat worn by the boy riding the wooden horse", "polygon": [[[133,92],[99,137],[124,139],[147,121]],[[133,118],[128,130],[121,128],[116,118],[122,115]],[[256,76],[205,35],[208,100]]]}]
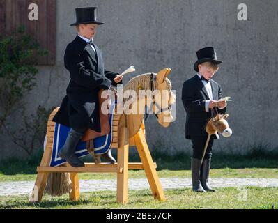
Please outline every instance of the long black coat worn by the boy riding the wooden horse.
[{"label": "long black coat worn by the boy riding the wooden horse", "polygon": [[[105,70],[102,53],[77,36],[65,50],[65,68],[70,72],[70,84],[62,105],[53,121],[70,128],[91,128],[100,132],[98,91],[116,86],[118,75]],[[121,84],[121,83],[120,83]]]}]

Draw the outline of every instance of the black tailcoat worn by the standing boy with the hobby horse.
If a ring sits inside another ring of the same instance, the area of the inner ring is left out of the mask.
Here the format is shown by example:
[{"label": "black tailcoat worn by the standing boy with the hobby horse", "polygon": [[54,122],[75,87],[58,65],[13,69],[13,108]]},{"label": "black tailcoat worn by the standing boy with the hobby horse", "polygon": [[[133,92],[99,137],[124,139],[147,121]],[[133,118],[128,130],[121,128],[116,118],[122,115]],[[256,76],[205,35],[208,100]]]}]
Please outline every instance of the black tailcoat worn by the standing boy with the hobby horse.
[{"label": "black tailcoat worn by the standing boy with the hobby horse", "polygon": [[[213,100],[220,100],[222,98],[221,86],[213,79],[210,80],[210,83]],[[206,112],[206,100],[210,100],[210,98],[198,75],[184,82],[182,100],[187,114],[185,123],[186,139],[191,139],[192,136],[207,136],[206,124],[212,118],[212,113],[211,111]],[[217,108],[217,112],[224,114],[226,108]]]}]

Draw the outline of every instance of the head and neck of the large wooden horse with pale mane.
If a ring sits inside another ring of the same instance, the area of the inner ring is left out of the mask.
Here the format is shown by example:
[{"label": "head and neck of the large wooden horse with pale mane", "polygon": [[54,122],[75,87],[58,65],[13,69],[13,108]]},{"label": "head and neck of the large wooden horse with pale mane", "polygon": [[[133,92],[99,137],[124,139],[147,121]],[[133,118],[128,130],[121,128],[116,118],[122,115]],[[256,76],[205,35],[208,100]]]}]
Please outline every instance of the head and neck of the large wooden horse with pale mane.
[{"label": "head and neck of the large wooden horse with pale mane", "polygon": [[[137,119],[137,123],[138,120],[143,121],[145,107],[148,107],[148,114],[155,114],[158,123],[164,128],[167,128],[173,122],[171,106],[176,102],[176,95],[173,93],[171,82],[167,78],[170,73],[171,69],[169,68],[160,70],[157,74],[146,73],[134,77],[125,85],[123,95],[131,94],[131,91],[137,95],[131,103],[124,101],[124,107],[132,110],[131,113],[125,112],[130,123],[135,123],[134,119]],[[148,114],[146,114],[146,117],[148,117]],[[140,125],[141,123],[135,127],[132,124],[134,130],[130,131],[136,133]]]}]

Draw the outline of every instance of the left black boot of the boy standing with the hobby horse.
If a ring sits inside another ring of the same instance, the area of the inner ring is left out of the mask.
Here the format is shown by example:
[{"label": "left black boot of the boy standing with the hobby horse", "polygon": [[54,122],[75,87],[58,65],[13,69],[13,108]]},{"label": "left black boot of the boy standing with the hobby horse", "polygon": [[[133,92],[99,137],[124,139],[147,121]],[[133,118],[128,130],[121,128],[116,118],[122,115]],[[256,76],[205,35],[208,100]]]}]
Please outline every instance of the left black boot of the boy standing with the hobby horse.
[{"label": "left black boot of the boy standing with the hobby horse", "polygon": [[201,185],[200,169],[201,169],[201,160],[192,158],[191,160],[192,190],[194,192],[206,192],[206,190],[203,190],[203,187]]}]

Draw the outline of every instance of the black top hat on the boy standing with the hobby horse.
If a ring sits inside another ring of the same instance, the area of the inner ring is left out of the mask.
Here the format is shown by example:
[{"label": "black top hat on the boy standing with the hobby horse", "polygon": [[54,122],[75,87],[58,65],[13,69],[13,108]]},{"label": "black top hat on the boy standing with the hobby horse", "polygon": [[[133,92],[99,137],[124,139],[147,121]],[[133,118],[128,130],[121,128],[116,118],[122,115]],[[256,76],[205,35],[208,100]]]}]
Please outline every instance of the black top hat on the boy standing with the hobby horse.
[{"label": "black top hat on the boy standing with the hobby horse", "polygon": [[198,52],[196,52],[196,54],[198,56],[198,61],[196,61],[196,63],[194,64],[194,70],[196,70],[196,72],[199,72],[198,66],[201,63],[205,63],[205,62],[213,62],[217,64],[222,63],[222,61],[217,60],[216,51],[215,48],[213,47],[206,47],[200,49]]}]

